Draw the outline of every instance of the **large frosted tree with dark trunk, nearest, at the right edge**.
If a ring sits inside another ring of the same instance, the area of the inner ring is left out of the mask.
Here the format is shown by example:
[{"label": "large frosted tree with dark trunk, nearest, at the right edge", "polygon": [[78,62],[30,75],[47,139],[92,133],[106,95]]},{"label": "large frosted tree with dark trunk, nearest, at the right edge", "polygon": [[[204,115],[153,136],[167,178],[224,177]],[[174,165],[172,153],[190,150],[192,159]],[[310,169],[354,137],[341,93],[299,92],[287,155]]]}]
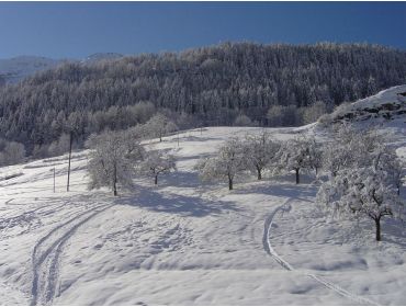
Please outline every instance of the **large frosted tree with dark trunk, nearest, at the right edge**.
[{"label": "large frosted tree with dark trunk, nearest, at the right edge", "polygon": [[[375,238],[381,240],[381,219],[404,214],[391,167],[393,152],[384,146],[369,154],[369,166],[340,169],[325,182],[317,202],[339,217],[370,218],[375,224]],[[395,158],[397,159],[397,158]]]}]

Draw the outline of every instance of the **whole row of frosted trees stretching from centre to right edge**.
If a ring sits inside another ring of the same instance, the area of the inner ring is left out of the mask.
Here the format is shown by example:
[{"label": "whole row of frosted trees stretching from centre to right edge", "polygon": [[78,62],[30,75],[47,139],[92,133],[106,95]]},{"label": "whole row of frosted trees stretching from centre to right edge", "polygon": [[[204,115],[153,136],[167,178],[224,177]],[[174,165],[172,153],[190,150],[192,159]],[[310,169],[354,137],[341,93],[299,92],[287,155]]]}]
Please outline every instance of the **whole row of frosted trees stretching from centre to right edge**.
[{"label": "whole row of frosted trees stretching from centre to right edge", "polygon": [[404,214],[399,197],[404,166],[375,130],[342,125],[334,136],[325,144],[304,136],[279,141],[266,132],[232,138],[195,168],[203,180],[227,181],[229,190],[237,175],[248,172],[261,180],[264,170],[294,171],[297,184],[302,172],[313,171],[323,181],[317,194],[323,208],[341,217],[371,218],[381,240],[381,219]]}]

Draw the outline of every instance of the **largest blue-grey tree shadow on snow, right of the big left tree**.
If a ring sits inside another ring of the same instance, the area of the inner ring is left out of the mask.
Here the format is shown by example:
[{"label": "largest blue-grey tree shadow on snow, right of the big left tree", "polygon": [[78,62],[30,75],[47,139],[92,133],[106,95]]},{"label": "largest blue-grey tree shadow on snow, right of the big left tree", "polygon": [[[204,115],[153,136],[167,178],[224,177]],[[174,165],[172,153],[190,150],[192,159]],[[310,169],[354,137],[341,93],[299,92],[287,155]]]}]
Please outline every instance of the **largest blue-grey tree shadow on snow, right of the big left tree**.
[{"label": "largest blue-grey tree shadow on snow, right of the big left tree", "polygon": [[135,195],[122,196],[116,200],[116,204],[193,217],[218,215],[227,211],[238,211],[230,202],[208,201],[196,196],[184,196],[173,193],[161,194],[142,186],[137,186],[136,190],[138,192]]}]

